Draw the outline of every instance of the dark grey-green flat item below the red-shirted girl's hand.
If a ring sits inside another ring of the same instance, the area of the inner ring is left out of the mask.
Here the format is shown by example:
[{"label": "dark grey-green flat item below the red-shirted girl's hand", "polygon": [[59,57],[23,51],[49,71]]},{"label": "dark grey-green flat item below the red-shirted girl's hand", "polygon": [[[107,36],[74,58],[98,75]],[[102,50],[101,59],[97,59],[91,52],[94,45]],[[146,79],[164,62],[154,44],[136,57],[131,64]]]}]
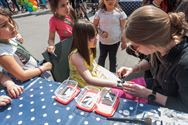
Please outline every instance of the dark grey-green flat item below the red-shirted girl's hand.
[{"label": "dark grey-green flat item below the red-shirted girl's hand", "polygon": [[49,54],[47,51],[42,53],[46,61],[52,63],[51,74],[53,79],[58,82],[63,82],[69,77],[69,62],[68,56],[72,46],[72,37],[67,38],[55,45],[55,52]]}]

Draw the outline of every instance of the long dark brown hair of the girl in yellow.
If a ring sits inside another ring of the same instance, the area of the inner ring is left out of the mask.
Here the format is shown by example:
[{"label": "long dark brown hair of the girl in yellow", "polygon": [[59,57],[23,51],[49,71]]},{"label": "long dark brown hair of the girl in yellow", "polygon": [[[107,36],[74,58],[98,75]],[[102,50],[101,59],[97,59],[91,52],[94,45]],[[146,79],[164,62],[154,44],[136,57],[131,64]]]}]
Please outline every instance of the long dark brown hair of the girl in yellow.
[{"label": "long dark brown hair of the girl in yellow", "polygon": [[[90,65],[90,53],[88,49],[88,40],[96,35],[95,26],[86,20],[78,20],[73,26],[73,43],[71,51],[78,50],[78,53],[84,58],[88,65]],[[96,57],[96,48],[91,49],[94,57]]]}]

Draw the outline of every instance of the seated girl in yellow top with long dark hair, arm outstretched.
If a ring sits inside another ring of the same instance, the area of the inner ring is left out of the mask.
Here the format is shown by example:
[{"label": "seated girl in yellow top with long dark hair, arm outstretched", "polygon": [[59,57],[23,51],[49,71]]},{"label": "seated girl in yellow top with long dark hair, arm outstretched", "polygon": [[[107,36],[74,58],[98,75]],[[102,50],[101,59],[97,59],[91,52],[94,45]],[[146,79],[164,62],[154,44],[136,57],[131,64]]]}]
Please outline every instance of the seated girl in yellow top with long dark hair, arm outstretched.
[{"label": "seated girl in yellow top with long dark hair, arm outstretched", "polygon": [[[82,35],[80,35],[82,34]],[[96,55],[95,26],[85,20],[79,20],[73,26],[73,44],[69,55],[70,79],[86,85],[116,87],[117,83],[99,78],[95,70]]]}]

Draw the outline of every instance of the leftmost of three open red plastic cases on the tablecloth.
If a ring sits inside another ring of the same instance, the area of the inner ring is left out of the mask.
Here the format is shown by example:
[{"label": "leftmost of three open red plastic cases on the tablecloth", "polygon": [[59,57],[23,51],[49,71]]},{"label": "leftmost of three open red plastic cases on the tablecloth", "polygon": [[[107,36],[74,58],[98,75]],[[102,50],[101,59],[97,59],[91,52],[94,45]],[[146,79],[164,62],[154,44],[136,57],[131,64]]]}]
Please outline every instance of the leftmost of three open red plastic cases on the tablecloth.
[{"label": "leftmost of three open red plastic cases on the tablecloth", "polygon": [[74,80],[65,80],[54,92],[55,100],[66,105],[80,92],[78,83]]}]

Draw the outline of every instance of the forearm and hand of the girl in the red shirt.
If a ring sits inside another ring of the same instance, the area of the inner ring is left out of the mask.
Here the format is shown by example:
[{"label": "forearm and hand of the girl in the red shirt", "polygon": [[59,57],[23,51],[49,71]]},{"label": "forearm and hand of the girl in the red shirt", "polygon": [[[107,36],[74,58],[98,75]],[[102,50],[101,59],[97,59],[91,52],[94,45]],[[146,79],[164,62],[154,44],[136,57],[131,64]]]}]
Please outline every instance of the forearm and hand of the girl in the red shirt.
[{"label": "forearm and hand of the girl in the red shirt", "polygon": [[55,32],[49,32],[48,48],[47,48],[47,51],[49,53],[53,53],[55,51],[54,41],[55,41]]}]

